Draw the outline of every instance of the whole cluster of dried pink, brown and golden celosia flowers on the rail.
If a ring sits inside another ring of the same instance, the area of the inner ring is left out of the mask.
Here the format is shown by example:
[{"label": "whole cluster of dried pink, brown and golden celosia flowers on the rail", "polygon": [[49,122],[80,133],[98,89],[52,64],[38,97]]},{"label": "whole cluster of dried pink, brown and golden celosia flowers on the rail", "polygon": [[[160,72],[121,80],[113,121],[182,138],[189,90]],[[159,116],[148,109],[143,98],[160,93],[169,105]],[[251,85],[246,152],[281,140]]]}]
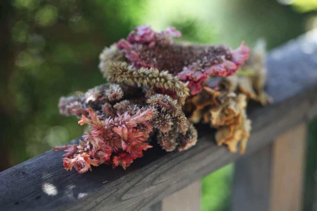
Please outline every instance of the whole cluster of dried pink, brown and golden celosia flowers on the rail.
[{"label": "whole cluster of dried pink, brown and golden celosia flowers on the rail", "polygon": [[[174,42],[175,28],[155,32],[140,26],[100,54],[99,68],[108,80],[85,94],[61,97],[60,113],[88,124],[80,143],[65,150],[64,167],[84,173],[111,164],[126,169],[151,148],[156,135],[166,151],[186,150],[197,142],[193,123],[209,122],[216,140],[230,151],[244,152],[250,133],[247,98],[266,104],[264,52],[251,59],[244,44],[197,46]],[[236,71],[239,76],[233,76]]]}]

